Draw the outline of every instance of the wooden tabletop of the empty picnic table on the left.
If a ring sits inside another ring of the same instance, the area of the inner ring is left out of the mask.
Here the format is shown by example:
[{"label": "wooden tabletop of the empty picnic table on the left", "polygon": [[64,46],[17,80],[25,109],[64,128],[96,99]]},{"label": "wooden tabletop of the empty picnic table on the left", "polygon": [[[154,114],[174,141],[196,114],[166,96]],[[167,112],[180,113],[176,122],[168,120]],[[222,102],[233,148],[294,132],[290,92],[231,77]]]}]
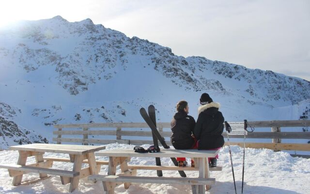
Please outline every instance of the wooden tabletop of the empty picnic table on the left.
[{"label": "wooden tabletop of the empty picnic table on the left", "polygon": [[10,146],[9,150],[83,155],[90,152],[99,151],[105,148],[106,146],[81,146],[81,145],[66,145],[66,144],[27,144],[20,146]]}]

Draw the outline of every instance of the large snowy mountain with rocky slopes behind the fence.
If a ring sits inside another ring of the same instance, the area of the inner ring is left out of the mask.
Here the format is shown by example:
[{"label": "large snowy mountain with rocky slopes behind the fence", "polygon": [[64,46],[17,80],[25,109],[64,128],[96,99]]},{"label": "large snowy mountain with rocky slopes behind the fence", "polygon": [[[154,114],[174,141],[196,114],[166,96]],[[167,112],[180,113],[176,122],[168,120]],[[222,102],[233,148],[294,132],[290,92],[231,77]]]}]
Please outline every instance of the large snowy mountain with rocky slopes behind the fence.
[{"label": "large snowy mountain with rocky slopes behind the fence", "polygon": [[226,120],[298,119],[277,113],[310,99],[310,82],[176,56],[170,48],[91,19],[55,16],[0,31],[0,102],[21,110],[6,120],[48,140],[56,123],[141,122],[139,109],[149,104],[158,121],[169,122],[181,99],[197,118],[203,92],[221,103]]}]

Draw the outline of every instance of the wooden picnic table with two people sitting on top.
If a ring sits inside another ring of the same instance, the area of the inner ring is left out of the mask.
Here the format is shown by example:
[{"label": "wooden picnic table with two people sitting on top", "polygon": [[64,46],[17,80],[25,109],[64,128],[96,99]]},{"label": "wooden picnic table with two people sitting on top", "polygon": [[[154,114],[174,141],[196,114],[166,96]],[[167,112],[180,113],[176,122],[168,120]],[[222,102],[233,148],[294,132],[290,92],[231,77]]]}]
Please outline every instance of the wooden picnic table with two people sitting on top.
[{"label": "wooden picnic table with two people sitting on top", "polygon": [[[217,155],[219,150],[175,150],[175,149],[161,149],[157,153],[137,153],[132,149],[113,149],[103,150],[96,152],[96,156],[109,157],[108,175],[93,175],[89,180],[102,181],[104,190],[107,194],[113,194],[114,188],[117,185],[123,184],[125,189],[129,188],[130,183],[160,183],[160,184],[189,184],[192,185],[193,194],[204,194],[205,185],[211,185],[215,183],[215,178],[210,178],[209,164],[207,158],[213,158]],[[186,157],[195,161],[195,167],[176,167],[165,166],[162,168],[158,166],[159,170],[197,170],[199,171],[198,178],[171,178],[171,177],[137,177],[137,169],[152,169],[155,170],[155,166],[135,165],[130,167],[131,157],[152,157],[152,158],[175,158]],[[120,165],[121,174],[116,175],[116,167]],[[191,168],[191,169],[190,169]],[[133,170],[130,170],[133,169]]]}]

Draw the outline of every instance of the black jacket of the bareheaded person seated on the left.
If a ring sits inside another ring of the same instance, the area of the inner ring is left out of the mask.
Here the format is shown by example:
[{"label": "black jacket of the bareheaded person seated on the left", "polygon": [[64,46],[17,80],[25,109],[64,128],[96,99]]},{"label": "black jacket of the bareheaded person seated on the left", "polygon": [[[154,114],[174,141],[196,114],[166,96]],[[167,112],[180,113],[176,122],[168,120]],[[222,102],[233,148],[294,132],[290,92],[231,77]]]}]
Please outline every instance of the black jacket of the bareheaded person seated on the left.
[{"label": "black jacket of the bareheaded person seated on the left", "polygon": [[191,149],[194,139],[191,134],[195,127],[195,119],[184,111],[175,113],[171,121],[171,143],[175,149]]}]

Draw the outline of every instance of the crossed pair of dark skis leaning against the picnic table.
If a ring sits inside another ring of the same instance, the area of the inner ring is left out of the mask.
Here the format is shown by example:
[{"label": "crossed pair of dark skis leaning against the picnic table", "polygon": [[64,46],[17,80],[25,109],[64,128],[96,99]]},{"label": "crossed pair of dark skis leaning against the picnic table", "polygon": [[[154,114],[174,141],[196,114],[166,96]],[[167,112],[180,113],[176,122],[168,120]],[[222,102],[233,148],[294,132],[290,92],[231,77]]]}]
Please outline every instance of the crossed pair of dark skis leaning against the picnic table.
[{"label": "crossed pair of dark skis leaning against the picnic table", "polygon": [[[149,113],[149,114],[148,114]],[[145,122],[148,124],[148,126],[151,128],[152,130],[152,135],[153,135],[153,143],[154,143],[154,146],[158,146],[158,141],[160,142],[160,144],[168,149],[170,148],[164,138],[160,135],[160,133],[158,132],[157,128],[156,128],[156,116],[155,116],[155,107],[153,105],[150,105],[148,107],[148,113],[146,112],[146,110],[144,108],[141,108],[140,109],[140,114],[141,116],[143,117],[143,119],[145,120]],[[173,164],[175,166],[178,166],[178,162],[176,161],[175,158],[170,158],[171,161],[173,162]],[[156,160],[156,165],[157,166],[160,166],[161,163],[160,163],[160,158],[155,158]],[[179,174],[181,177],[186,177],[186,174],[184,171],[179,171]],[[157,170],[157,176],[158,177],[162,177],[163,174],[162,174],[162,171],[161,170]]]}]

